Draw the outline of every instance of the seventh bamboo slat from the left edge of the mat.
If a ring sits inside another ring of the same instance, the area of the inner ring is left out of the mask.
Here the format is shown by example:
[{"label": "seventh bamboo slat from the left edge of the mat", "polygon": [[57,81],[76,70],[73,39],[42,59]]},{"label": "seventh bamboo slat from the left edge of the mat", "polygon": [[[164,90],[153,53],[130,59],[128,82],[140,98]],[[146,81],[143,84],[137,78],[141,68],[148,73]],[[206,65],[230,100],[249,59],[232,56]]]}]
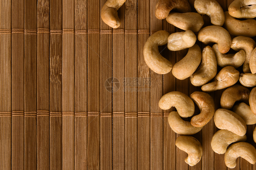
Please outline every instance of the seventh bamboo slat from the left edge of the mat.
[{"label": "seventh bamboo slat from the left edge of the mat", "polygon": [[87,1],[75,1],[75,170],[87,169]]}]

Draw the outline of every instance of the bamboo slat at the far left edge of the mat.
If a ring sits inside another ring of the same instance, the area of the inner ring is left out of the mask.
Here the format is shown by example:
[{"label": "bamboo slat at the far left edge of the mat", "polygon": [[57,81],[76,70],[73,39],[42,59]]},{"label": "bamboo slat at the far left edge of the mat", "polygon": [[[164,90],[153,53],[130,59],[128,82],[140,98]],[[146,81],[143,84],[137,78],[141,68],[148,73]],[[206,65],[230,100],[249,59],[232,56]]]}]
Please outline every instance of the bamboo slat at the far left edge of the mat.
[{"label": "bamboo slat at the far left edge of the mat", "polygon": [[12,3],[0,1],[0,169],[12,168]]}]

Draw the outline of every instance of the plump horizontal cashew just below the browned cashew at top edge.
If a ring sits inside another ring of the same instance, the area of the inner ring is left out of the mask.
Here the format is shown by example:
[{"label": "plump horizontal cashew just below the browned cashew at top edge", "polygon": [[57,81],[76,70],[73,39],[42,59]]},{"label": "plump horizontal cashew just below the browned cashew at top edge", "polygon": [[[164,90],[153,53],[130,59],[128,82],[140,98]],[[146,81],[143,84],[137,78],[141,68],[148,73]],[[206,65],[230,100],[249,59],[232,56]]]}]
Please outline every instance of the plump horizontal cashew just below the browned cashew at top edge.
[{"label": "plump horizontal cashew just below the browned cashew at top edge", "polygon": [[171,12],[166,17],[166,21],[180,29],[185,31],[191,30],[193,32],[198,32],[204,25],[204,19],[202,15],[196,12]]}]

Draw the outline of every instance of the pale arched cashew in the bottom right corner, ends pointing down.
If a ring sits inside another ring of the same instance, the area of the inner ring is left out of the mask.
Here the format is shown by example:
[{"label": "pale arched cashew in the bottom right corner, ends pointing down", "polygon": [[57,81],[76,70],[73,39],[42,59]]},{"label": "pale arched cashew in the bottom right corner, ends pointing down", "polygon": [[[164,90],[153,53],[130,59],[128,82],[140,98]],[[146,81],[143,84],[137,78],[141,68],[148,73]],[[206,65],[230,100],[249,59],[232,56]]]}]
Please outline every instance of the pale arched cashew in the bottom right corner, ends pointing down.
[{"label": "pale arched cashew in the bottom right corner, ends pointing down", "polygon": [[225,153],[225,164],[228,168],[236,167],[236,158],[241,157],[251,164],[256,162],[256,149],[247,142],[232,144]]}]

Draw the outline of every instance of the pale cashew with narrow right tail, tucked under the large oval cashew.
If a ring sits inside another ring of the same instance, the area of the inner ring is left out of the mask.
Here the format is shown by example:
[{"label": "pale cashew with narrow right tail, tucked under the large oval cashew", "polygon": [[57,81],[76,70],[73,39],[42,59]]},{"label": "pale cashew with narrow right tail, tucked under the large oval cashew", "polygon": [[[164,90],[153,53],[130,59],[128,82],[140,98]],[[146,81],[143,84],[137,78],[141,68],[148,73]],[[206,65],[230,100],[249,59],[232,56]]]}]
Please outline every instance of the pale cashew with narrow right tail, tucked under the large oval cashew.
[{"label": "pale cashew with narrow right tail, tucked under the large oval cashew", "polygon": [[224,154],[228,145],[233,142],[244,142],[246,139],[246,135],[238,136],[233,132],[221,129],[213,135],[211,146],[215,153]]}]

